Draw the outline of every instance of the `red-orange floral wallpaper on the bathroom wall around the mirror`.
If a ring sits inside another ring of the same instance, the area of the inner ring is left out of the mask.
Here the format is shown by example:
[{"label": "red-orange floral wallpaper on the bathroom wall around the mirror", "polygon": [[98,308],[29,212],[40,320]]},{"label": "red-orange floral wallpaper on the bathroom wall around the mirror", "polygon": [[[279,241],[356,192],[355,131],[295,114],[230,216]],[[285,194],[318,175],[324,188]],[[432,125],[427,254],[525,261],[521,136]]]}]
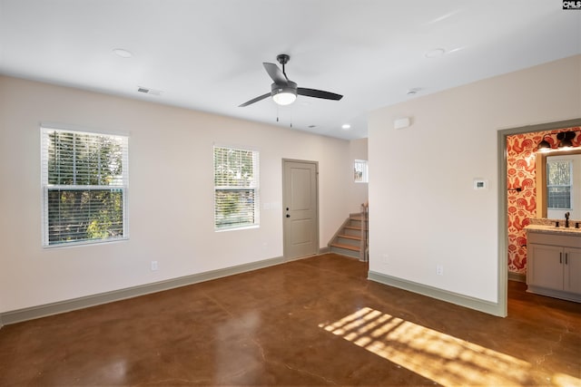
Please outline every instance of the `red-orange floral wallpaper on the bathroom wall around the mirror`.
[{"label": "red-orange floral wallpaper on the bathroom wall around the mirror", "polygon": [[556,131],[537,131],[507,137],[507,208],[508,208],[508,270],[527,273],[527,233],[529,218],[537,216],[537,184],[535,152],[538,143],[547,140],[557,148],[556,133],[577,131],[573,146],[581,146],[581,127]]}]

